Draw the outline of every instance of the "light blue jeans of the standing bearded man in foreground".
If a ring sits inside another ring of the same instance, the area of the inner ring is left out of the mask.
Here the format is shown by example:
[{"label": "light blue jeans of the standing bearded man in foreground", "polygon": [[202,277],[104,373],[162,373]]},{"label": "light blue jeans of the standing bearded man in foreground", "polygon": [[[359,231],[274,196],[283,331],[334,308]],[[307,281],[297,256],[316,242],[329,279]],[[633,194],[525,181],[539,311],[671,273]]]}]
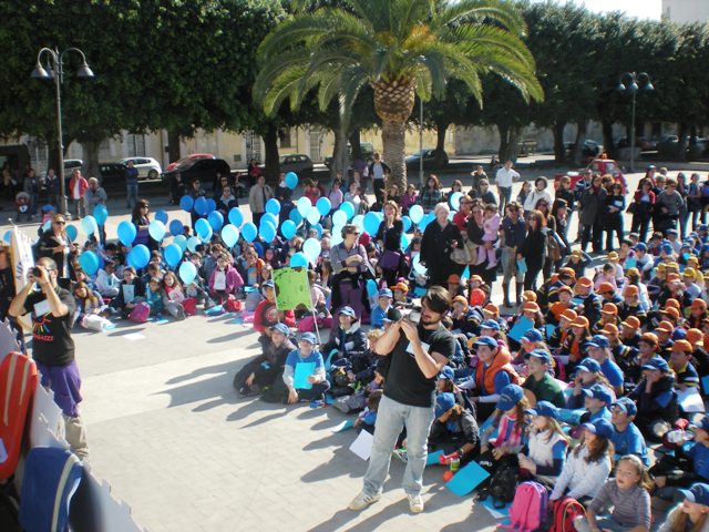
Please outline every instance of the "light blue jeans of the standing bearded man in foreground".
[{"label": "light blue jeans of the standing bearded man in foreground", "polygon": [[403,473],[403,491],[418,495],[423,487],[423,469],[428,456],[428,440],[433,423],[433,407],[410,407],[387,396],[381,398],[374,424],[374,444],[364,473],[364,493],[374,495],[389,473],[391,451],[401,430],[407,428],[407,470]]}]

